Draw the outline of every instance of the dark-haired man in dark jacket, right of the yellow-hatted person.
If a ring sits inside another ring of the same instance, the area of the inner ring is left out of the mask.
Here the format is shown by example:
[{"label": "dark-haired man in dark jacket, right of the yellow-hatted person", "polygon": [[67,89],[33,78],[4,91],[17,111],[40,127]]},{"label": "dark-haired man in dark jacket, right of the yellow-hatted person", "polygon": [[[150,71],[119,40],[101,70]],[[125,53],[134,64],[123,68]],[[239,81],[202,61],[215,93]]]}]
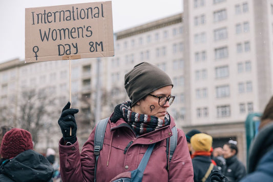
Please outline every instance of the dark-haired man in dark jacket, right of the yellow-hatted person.
[{"label": "dark-haired man in dark jacket, right of the yellow-hatted person", "polygon": [[223,157],[226,160],[225,169],[223,174],[227,177],[228,181],[239,181],[246,175],[245,166],[237,158],[238,147],[237,141],[229,140],[223,146]]}]

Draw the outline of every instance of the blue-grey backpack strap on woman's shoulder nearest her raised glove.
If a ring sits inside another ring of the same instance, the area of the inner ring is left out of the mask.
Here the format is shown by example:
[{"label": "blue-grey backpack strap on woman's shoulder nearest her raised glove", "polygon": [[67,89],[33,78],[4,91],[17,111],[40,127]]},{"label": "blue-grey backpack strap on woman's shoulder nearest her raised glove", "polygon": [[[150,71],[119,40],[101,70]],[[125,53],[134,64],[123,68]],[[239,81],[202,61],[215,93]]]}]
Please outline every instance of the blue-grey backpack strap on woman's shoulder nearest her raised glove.
[{"label": "blue-grey backpack strap on woman's shoulder nearest her raised glove", "polygon": [[108,123],[109,117],[105,119],[101,119],[95,130],[95,139],[94,139],[94,155],[96,155],[96,164],[95,164],[95,171],[94,171],[94,181],[96,181],[96,170],[97,170],[97,161],[99,157],[99,152],[102,149],[103,146],[103,140],[104,140],[104,133],[106,130],[106,126]]}]

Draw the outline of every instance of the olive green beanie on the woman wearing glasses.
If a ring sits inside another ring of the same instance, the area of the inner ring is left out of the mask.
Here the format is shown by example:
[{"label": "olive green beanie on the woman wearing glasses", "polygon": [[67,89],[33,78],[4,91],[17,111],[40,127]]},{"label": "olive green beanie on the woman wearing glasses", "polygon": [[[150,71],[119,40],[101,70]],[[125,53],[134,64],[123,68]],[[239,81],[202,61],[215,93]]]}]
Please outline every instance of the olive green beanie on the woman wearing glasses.
[{"label": "olive green beanie on the woman wearing glasses", "polygon": [[124,88],[132,100],[131,107],[149,93],[173,83],[171,78],[150,63],[140,63],[124,76]]}]

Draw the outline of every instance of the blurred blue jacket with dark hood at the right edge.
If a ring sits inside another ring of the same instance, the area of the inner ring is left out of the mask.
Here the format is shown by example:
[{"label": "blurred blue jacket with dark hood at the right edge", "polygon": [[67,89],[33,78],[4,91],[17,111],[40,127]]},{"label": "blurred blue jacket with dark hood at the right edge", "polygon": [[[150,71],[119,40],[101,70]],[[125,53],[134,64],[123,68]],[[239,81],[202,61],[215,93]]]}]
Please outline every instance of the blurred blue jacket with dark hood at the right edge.
[{"label": "blurred blue jacket with dark hood at the right edge", "polygon": [[273,124],[267,125],[251,143],[247,161],[248,175],[240,182],[273,181]]}]

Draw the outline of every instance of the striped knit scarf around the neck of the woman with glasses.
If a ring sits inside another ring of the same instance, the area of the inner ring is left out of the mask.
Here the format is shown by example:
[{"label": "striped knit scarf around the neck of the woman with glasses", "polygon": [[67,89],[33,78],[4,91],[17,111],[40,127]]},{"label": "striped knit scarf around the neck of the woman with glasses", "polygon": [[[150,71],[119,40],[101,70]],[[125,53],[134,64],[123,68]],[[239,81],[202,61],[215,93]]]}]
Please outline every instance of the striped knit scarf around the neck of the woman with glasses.
[{"label": "striped knit scarf around the neck of the woman with glasses", "polygon": [[167,113],[164,120],[147,114],[139,114],[131,110],[131,101],[123,102],[120,110],[127,122],[136,134],[149,133],[164,126],[170,125],[170,115]]}]

